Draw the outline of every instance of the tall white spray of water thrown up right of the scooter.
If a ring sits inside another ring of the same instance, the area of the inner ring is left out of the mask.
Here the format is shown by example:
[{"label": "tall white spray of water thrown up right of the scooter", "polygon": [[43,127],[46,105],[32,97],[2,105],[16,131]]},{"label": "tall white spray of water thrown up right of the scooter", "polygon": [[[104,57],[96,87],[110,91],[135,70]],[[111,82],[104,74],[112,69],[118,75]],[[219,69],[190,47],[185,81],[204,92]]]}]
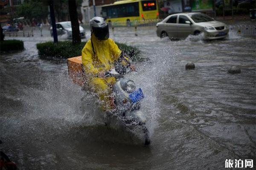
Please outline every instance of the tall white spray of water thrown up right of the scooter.
[{"label": "tall white spray of water thrown up right of the scooter", "polygon": [[[154,30],[151,31],[152,34],[155,34]],[[127,32],[127,34],[129,33]],[[154,129],[158,127],[158,119],[161,115],[159,91],[164,88],[164,84],[162,84],[163,79],[170,79],[170,75],[168,75],[171,70],[170,65],[175,62],[174,58],[177,57],[177,52],[170,50],[175,42],[171,42],[167,37],[163,39],[148,37],[148,34],[151,34],[151,32],[138,31],[137,37],[132,36],[132,32],[130,34],[131,39],[129,37],[122,38],[121,35],[119,37],[116,36],[115,39],[118,42],[122,41],[139,48],[141,50],[141,57],[150,58],[148,62],[136,63],[137,72],[126,75],[126,78],[134,80],[137,88],[142,88],[143,90],[145,98],[142,101],[141,111],[147,117],[147,125],[152,135]],[[145,43],[134,40],[134,38],[140,39]],[[154,49],[152,50],[152,48]]]}]

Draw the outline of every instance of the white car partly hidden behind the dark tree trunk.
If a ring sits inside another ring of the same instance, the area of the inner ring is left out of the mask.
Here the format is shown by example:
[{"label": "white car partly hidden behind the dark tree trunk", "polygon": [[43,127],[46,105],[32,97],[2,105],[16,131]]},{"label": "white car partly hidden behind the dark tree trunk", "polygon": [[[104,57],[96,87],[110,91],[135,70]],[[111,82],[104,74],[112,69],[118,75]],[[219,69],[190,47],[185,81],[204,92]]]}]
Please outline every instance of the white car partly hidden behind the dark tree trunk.
[{"label": "white car partly hidden behind the dark tree trunk", "polygon": [[[67,34],[68,38],[72,38],[72,28],[71,28],[71,21],[65,21],[56,23],[56,30],[57,35]],[[80,36],[81,38],[85,38],[85,30],[83,27],[79,26]],[[52,27],[50,28],[50,34],[52,33]]]}]

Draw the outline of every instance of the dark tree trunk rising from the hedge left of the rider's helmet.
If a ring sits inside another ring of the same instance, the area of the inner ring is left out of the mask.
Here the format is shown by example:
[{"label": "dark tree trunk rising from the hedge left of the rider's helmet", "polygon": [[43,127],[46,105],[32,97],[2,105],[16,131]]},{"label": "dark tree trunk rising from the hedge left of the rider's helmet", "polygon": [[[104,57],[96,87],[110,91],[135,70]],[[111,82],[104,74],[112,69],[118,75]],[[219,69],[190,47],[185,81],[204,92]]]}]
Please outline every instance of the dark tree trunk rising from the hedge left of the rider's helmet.
[{"label": "dark tree trunk rising from the hedge left of the rider's helmet", "polygon": [[72,43],[80,44],[81,37],[79,31],[79,23],[76,11],[76,0],[68,0],[68,9],[70,13],[71,27],[72,27]]}]

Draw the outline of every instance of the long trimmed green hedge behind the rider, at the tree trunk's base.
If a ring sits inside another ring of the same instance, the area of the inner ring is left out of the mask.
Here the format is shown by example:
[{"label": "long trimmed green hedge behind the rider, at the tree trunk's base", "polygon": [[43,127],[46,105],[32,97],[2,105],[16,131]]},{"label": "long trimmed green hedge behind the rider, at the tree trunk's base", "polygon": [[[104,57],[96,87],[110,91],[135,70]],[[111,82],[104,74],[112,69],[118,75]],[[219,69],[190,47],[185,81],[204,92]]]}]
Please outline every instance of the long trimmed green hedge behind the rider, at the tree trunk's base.
[{"label": "long trimmed green hedge behind the rider, at the tree trunk's base", "polygon": [[[71,41],[59,41],[58,43],[54,42],[43,42],[38,43],[36,48],[38,49],[38,54],[42,57],[59,57],[59,58],[70,58],[81,56],[81,51],[84,48],[86,42],[81,42],[79,45],[73,45]],[[130,54],[131,51],[134,51],[134,55],[131,58],[133,61],[141,61],[139,58],[140,51],[137,48],[122,44],[116,43],[118,47],[125,51],[126,54]]]}]

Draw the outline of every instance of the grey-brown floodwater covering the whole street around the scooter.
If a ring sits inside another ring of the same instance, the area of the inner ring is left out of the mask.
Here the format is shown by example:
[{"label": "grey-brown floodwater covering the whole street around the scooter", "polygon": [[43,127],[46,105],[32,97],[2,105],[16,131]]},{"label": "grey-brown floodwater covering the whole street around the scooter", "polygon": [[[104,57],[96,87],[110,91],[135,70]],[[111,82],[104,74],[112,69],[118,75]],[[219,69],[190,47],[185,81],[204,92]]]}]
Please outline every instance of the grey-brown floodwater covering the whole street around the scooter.
[{"label": "grey-brown floodwater covering the whole street around the scooter", "polygon": [[[128,74],[141,87],[151,144],[111,129],[90,94],[67,75],[65,60],[44,60],[35,44],[0,57],[1,149],[20,170],[217,170],[225,160],[256,157],[256,39],[170,41],[154,28],[111,31],[147,62]],[[186,70],[187,62],[194,70]],[[241,74],[229,74],[231,66]]]}]

